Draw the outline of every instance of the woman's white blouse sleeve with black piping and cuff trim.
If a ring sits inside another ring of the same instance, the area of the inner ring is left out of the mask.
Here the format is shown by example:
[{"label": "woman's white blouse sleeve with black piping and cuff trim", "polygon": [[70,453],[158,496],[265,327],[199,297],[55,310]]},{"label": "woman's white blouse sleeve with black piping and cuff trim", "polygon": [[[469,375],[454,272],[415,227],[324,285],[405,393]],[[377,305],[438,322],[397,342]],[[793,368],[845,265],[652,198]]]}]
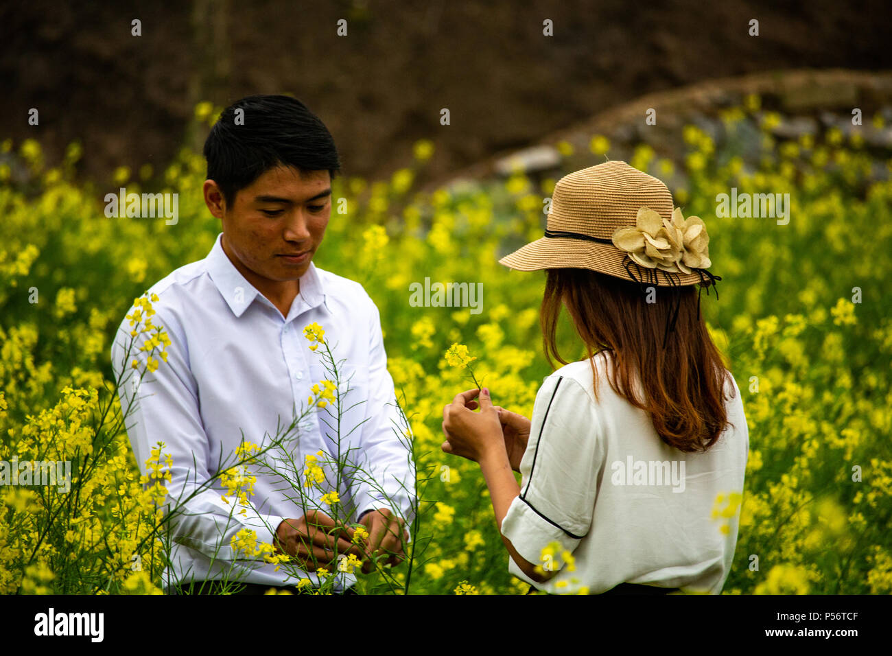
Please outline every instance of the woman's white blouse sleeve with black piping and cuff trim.
[{"label": "woman's white blouse sleeve with black piping and cuff trim", "polygon": [[[536,394],[520,494],[501,526],[502,535],[535,565],[543,565],[542,550],[550,544],[558,543],[558,555],[573,552],[589,532],[604,457],[596,415],[591,396],[574,378],[546,378]],[[513,559],[508,566],[533,583]]]}]

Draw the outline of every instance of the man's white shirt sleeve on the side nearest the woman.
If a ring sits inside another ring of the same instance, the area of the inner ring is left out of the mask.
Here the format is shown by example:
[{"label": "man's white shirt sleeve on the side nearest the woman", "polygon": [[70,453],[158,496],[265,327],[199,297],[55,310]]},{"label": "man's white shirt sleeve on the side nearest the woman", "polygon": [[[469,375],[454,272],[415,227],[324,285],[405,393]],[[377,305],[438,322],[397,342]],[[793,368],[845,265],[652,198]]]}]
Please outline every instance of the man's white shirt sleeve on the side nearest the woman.
[{"label": "man's white shirt sleeve on the side nearest the woman", "polygon": [[415,514],[415,463],[408,428],[397,406],[393,378],[387,370],[387,353],[381,317],[371,298],[369,313],[368,419],[359,438],[360,467],[353,479],[357,515],[390,508],[408,525]]}]

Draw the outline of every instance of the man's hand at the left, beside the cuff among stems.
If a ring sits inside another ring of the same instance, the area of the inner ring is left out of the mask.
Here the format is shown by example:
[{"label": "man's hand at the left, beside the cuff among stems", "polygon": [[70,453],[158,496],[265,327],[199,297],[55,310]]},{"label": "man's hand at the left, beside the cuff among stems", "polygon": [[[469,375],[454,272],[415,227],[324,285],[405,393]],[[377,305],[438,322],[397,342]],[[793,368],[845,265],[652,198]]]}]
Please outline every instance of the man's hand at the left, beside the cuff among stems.
[{"label": "man's hand at the left, beside the cuff among stems", "polygon": [[353,529],[336,524],[326,514],[310,511],[301,519],[283,519],[276,529],[274,546],[301,561],[308,572],[319,568],[331,569],[341,554],[364,554],[352,543]]}]

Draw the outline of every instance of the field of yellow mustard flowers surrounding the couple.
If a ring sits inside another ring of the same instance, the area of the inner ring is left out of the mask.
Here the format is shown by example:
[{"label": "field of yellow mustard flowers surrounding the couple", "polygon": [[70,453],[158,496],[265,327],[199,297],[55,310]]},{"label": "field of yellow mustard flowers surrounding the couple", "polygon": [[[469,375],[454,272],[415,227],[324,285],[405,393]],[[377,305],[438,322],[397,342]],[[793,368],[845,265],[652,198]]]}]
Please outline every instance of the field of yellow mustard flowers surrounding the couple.
[{"label": "field of yellow mustard flowers surrounding the couple", "polygon": [[[200,106],[197,117],[212,122],[211,113]],[[728,112],[726,128],[751,113]],[[705,218],[711,270],[722,277],[719,300],[703,295],[702,307],[744,395],[750,436],[742,500],[715,502],[716,531],[740,512],[724,592],[889,594],[892,154],[868,152],[836,129],[780,141],[770,135],[770,112],[760,117],[755,170],[694,126],[677,161],[648,145],[629,161],[667,184],[684,173],[684,187],[670,184],[675,203]],[[589,165],[610,147],[591,138]],[[120,169],[103,185],[76,184],[77,143],[57,168],[45,166],[37,142],[0,143],[9,155],[0,159],[0,460],[71,462],[70,490],[0,486],[0,594],[161,594],[169,461],[153,452],[141,479],[109,353],[140,299],[136,344],[151,353],[150,368],[165,366],[166,336],[152,325],[144,293],[202,259],[220,231],[202,200],[204,160],[184,150],[166,170]],[[460,366],[473,357],[493,403],[531,415],[550,373],[538,315],[544,274],[498,260],[541,237],[543,199],[557,178],[515,173],[417,191],[418,171],[435,156],[422,141],[413,166],[391,179],[336,178],[314,260],[359,281],[376,302],[417,463],[414,556],[367,583],[359,575],[359,585],[366,593],[524,594],[528,585],[508,574],[479,469],[441,451],[442,408],[476,386]],[[103,196],[125,184],[178,193],[178,222],[107,217]],[[716,196],[732,187],[789,193],[789,222],[716,216]],[[425,278],[428,286],[481,283],[480,311],[411,303]],[[581,359],[564,320],[561,354]],[[316,392],[308,411],[334,401],[330,386]],[[229,472],[220,487],[237,499],[250,480]],[[276,558],[242,537],[238,548]]]}]

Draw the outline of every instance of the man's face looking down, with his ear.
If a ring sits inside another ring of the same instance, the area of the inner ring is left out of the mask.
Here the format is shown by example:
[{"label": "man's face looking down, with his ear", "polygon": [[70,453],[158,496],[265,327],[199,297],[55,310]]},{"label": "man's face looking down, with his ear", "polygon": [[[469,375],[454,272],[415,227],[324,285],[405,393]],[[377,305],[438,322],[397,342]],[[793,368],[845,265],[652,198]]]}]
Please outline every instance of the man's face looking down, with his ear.
[{"label": "man's face looking down, with his ear", "polygon": [[296,280],[306,273],[331,214],[327,170],[303,176],[291,167],[267,170],[239,189],[231,206],[215,202],[219,190],[215,192],[211,180],[204,187],[211,213],[223,222],[228,253],[259,278],[257,282]]}]

